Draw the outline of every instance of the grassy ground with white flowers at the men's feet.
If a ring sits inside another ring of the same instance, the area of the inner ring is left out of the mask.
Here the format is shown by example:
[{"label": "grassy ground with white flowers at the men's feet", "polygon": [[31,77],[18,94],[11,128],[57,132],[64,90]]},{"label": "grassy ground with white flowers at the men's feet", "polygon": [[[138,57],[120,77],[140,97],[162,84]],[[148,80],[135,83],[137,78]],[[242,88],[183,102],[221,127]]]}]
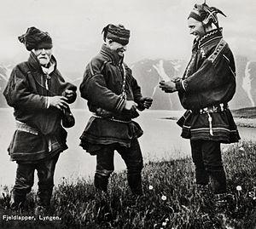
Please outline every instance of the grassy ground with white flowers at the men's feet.
[{"label": "grassy ground with white flowers at the men's feet", "polygon": [[[58,220],[3,220],[2,215],[33,215],[33,193],[26,211],[9,210],[9,191],[0,199],[0,227],[13,228],[255,228],[256,145],[244,142],[224,152],[230,201],[222,214],[212,192],[195,192],[190,158],[148,163],[143,169],[144,196],[131,195],[124,172],[113,174],[108,195],[91,180],[67,180],[55,187],[49,215]],[[241,186],[241,191],[236,187]]]}]

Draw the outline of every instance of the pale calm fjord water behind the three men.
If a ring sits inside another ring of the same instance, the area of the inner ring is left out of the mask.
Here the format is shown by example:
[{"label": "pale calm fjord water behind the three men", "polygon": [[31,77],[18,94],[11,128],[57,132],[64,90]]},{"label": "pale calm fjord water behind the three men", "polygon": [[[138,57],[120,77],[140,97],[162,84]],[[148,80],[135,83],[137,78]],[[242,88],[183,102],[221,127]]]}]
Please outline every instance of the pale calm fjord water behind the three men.
[{"label": "pale calm fjord water behind the three men", "polygon": [[[172,158],[188,157],[190,155],[189,140],[180,137],[181,129],[176,121],[166,117],[179,117],[183,112],[176,111],[145,111],[137,117],[144,135],[139,139],[143,151],[144,162],[169,160]],[[76,180],[78,177],[93,177],[96,167],[96,157],[79,146],[79,136],[90,118],[90,112],[73,110],[76,124],[67,129],[68,149],[61,153],[55,169],[55,184],[63,177]],[[9,161],[7,148],[15,132],[15,119],[12,109],[0,109],[0,186],[11,186],[15,182],[16,163]],[[241,138],[256,140],[256,129],[239,128]],[[115,154],[115,170],[125,169],[125,163],[118,153]],[[37,175],[35,175],[36,177]],[[36,181],[37,182],[37,181]],[[36,184],[35,182],[35,184]]]}]

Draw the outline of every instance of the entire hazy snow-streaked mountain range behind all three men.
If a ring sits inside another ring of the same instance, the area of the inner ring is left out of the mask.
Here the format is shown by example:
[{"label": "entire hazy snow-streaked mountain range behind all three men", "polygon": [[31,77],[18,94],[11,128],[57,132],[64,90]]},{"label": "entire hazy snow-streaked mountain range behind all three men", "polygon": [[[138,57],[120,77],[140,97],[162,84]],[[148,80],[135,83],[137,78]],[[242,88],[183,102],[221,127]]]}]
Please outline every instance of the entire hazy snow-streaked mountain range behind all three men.
[{"label": "entire hazy snow-streaked mountain range behind all three men", "polygon": [[[186,66],[184,60],[140,60],[131,64],[133,76],[142,88],[143,96],[153,97],[152,109],[155,110],[181,110],[183,109],[178,100],[177,93],[166,94],[159,88],[160,75],[166,72],[169,77],[183,75]],[[84,63],[80,63],[81,69]],[[3,89],[7,83],[12,65],[0,63],[0,107],[6,107],[3,98]],[[80,70],[81,70],[80,69]],[[79,87],[82,81],[84,70],[81,72],[77,68],[61,72],[71,83]],[[67,77],[66,77],[67,76]],[[166,77],[165,75],[163,77]],[[78,93],[79,94],[79,93]],[[244,56],[236,56],[236,94],[230,101],[231,109],[256,106],[256,62],[248,60]],[[85,108],[86,101],[78,96],[78,100],[73,104],[74,108]]]}]

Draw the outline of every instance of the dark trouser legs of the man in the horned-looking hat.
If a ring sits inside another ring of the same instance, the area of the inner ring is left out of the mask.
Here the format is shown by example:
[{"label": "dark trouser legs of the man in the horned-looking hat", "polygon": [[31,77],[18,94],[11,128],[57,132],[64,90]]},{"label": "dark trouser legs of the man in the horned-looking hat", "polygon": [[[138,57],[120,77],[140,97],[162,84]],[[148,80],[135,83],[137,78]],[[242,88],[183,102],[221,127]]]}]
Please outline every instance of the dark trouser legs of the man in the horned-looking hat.
[{"label": "dark trouser legs of the man in the horned-looking hat", "polygon": [[190,140],[195,163],[196,184],[207,185],[212,179],[215,194],[226,192],[226,175],[221,158],[220,143],[212,140]]}]

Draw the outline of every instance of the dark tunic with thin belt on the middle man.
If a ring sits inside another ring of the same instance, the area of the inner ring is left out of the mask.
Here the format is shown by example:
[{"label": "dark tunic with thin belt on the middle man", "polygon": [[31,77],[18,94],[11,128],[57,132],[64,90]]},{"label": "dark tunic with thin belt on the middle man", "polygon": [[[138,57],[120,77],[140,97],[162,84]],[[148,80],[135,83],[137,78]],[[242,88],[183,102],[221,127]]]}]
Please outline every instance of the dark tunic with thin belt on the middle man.
[{"label": "dark tunic with thin belt on the middle man", "polygon": [[130,147],[132,140],[143,135],[139,124],[131,120],[138,113],[124,110],[125,100],[139,104],[141,89],[131,69],[106,45],[86,66],[80,92],[93,113],[80,137],[80,146],[87,152],[96,154],[102,145],[113,143]]}]

